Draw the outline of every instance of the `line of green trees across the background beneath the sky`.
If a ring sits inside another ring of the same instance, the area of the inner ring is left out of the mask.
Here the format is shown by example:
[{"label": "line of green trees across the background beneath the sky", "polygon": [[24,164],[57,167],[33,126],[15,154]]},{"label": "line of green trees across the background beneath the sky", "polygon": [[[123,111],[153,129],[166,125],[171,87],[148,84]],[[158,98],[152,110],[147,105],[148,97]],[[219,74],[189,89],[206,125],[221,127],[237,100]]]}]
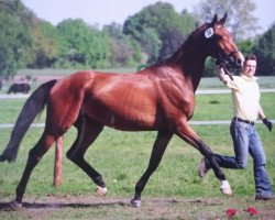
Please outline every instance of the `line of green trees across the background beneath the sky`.
[{"label": "line of green trees across the background beneath the sky", "polygon": [[[170,3],[156,2],[129,16],[122,25],[111,23],[99,30],[81,19],[67,19],[54,26],[20,0],[2,0],[0,79],[13,77],[20,68],[95,69],[162,62],[201,23],[226,11],[239,48],[258,57],[260,75],[275,75],[275,24],[252,37],[251,32],[257,29],[254,9],[250,0],[201,0],[193,13],[186,9],[178,13]],[[205,76],[213,75],[215,62],[208,58]]]}]

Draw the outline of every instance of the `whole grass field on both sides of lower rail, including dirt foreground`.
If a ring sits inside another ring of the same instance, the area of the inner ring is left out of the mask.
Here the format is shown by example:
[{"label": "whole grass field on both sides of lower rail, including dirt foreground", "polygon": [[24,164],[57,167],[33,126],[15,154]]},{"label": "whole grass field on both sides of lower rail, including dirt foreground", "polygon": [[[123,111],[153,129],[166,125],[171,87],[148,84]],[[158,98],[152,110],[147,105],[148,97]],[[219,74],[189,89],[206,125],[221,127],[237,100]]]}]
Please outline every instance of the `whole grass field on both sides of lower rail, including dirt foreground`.
[{"label": "whole grass field on both sides of lower rail, including dirt foreground", "polygon": [[[207,85],[209,86],[206,88],[212,88],[210,81]],[[1,100],[0,123],[13,123],[23,102],[24,100]],[[275,95],[262,94],[262,106],[266,116],[275,119]],[[231,108],[230,95],[198,95],[193,120],[230,120]],[[44,122],[44,114],[36,122]],[[268,132],[263,124],[256,127],[267,155],[266,168],[275,188],[274,131]],[[215,152],[233,154],[229,124],[193,128]],[[0,152],[9,141],[10,131],[0,129]],[[14,198],[14,189],[22,175],[28,152],[41,133],[42,129],[30,129],[21,144],[16,162],[0,164],[0,204]],[[75,129],[65,135],[65,152],[75,136]],[[197,165],[201,155],[177,136],[170,141],[158,169],[144,189],[144,206],[138,210],[131,208],[129,201],[133,197],[134,185],[147,166],[155,136],[156,132],[121,132],[106,128],[88,150],[86,160],[102,174],[107,183],[109,191],[106,200],[94,196],[95,184],[65,158],[65,152],[62,186],[53,187],[52,147],[35,167],[25,193],[26,201],[38,202],[42,208],[33,208],[29,204],[31,208],[22,212],[0,209],[0,219],[227,219],[224,210],[230,207],[240,210],[240,219],[250,219],[244,211],[248,206],[255,206],[260,210],[261,215],[254,219],[275,219],[275,212],[272,212],[275,209],[274,202],[254,201],[251,160],[246,169],[223,169],[234,191],[234,197],[226,198],[220,194],[219,182],[212,172],[204,182],[199,179]],[[50,206],[53,200],[67,206],[54,209]],[[43,209],[42,205],[46,208]]]}]

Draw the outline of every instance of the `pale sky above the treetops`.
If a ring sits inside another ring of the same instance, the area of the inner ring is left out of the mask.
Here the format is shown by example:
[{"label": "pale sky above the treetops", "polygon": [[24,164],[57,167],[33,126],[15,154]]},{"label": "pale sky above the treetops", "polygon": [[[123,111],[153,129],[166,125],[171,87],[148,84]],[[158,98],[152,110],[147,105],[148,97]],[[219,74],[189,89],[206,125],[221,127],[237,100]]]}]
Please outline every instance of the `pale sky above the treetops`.
[{"label": "pale sky above the treetops", "polygon": [[[105,24],[117,22],[123,24],[128,16],[141,11],[142,8],[160,0],[22,0],[38,18],[56,25],[64,19],[82,19],[88,24]],[[163,0],[175,7],[177,12],[183,9],[193,11],[200,0]],[[275,1],[254,0],[255,16],[258,25],[266,31],[275,22]]]}]

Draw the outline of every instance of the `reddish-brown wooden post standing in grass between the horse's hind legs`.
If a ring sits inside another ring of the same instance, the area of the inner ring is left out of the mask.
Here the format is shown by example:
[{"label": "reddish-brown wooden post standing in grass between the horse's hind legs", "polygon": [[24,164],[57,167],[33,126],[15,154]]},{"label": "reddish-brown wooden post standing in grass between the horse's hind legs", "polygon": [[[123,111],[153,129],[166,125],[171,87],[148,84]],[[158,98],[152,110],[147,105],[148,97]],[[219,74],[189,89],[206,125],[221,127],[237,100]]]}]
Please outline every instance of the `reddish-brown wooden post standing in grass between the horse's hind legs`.
[{"label": "reddish-brown wooden post standing in grass between the horse's hind legs", "polygon": [[64,136],[56,141],[55,147],[55,164],[54,164],[54,186],[58,187],[62,184],[62,155],[64,147]]}]

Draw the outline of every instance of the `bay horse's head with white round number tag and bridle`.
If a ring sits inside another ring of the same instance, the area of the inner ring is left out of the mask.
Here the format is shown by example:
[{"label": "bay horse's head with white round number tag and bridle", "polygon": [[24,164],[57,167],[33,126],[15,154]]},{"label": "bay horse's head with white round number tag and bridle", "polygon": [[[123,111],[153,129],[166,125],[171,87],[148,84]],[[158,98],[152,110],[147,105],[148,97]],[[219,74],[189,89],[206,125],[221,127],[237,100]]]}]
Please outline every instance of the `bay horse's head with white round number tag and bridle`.
[{"label": "bay horse's head with white round number tag and bridle", "polygon": [[230,33],[223,26],[227,21],[227,13],[218,21],[217,14],[211,23],[204,25],[207,52],[217,59],[216,64],[222,67],[241,68],[243,55],[234,44]]}]

